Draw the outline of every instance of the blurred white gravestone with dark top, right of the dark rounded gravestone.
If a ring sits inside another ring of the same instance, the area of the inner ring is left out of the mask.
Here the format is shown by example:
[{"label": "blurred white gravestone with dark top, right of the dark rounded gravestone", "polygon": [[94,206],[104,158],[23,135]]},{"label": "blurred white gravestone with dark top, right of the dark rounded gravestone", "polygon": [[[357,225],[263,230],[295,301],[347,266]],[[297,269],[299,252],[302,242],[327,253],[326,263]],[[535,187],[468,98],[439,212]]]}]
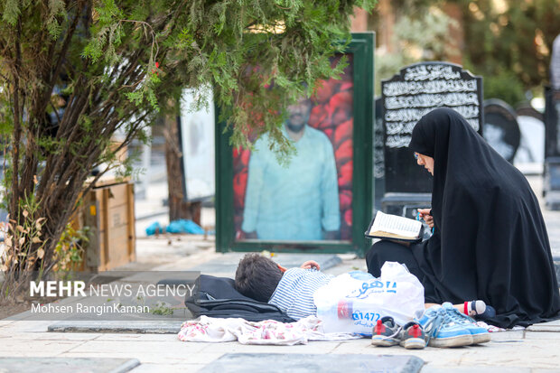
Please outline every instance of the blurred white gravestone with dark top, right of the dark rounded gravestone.
[{"label": "blurred white gravestone with dark top, right of the dark rounded gravestone", "polygon": [[515,163],[540,163],[545,161],[545,117],[535,107],[524,104],[516,108],[521,142]]}]

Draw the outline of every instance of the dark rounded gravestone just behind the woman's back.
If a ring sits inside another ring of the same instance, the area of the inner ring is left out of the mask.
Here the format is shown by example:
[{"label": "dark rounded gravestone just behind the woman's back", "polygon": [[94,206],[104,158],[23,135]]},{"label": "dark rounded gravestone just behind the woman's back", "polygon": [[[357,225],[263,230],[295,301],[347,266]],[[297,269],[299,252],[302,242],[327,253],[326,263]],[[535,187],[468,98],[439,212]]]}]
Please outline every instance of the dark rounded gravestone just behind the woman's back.
[{"label": "dark rounded gravestone just behind the woman's back", "polygon": [[509,163],[521,142],[517,117],[513,107],[498,98],[484,101],[484,139]]}]

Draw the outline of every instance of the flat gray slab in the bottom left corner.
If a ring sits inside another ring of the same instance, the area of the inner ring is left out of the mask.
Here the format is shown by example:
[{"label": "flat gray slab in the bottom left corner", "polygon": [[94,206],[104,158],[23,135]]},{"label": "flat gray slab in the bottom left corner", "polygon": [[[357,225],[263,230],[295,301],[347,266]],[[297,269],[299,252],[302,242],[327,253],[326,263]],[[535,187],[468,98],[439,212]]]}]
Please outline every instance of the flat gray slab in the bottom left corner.
[{"label": "flat gray slab in the bottom left corner", "polygon": [[0,358],[3,373],[124,373],[140,365],[137,359],[104,358]]}]

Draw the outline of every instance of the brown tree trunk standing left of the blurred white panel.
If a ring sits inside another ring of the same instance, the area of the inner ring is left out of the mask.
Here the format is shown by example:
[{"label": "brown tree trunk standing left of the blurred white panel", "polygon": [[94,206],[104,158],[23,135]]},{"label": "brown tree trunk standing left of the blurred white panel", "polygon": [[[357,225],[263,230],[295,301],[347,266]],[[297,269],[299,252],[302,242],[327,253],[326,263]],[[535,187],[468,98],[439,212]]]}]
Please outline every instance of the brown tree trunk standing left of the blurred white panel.
[{"label": "brown tree trunk standing left of the blurred white panel", "polygon": [[169,221],[190,219],[201,225],[201,203],[188,202],[184,198],[182,172],[182,150],[179,142],[179,128],[175,117],[164,118],[165,163],[169,191]]}]

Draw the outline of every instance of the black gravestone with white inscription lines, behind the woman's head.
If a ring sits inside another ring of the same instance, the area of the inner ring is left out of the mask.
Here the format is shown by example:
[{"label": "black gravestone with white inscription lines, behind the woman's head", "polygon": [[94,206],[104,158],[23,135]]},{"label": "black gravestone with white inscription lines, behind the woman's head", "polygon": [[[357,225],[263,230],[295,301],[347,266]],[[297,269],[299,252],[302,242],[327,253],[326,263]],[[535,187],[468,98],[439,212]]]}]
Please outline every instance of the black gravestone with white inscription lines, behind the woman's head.
[{"label": "black gravestone with white inscription lines, behind the woman's head", "polygon": [[382,80],[384,110],[385,196],[383,210],[408,217],[430,204],[432,176],[419,167],[407,146],[418,120],[437,107],[457,111],[479,133],[482,130],[482,79],[447,62],[406,66]]}]

